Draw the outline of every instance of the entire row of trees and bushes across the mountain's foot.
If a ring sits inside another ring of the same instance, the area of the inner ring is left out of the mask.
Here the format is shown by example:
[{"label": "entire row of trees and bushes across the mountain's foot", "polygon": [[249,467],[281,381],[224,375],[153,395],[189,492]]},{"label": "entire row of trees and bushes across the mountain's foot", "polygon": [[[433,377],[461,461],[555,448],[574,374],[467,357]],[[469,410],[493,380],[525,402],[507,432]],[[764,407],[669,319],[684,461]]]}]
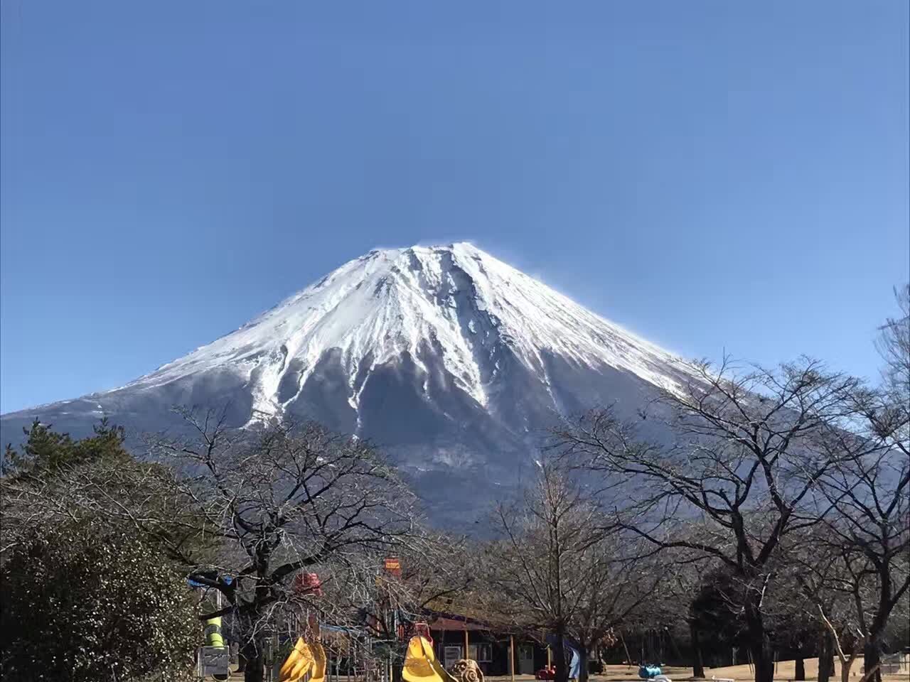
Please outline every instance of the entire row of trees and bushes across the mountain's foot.
[{"label": "entire row of trees and bushes across the mountain's foot", "polygon": [[756,682],[775,651],[820,656],[823,682],[862,655],[877,680],[910,613],[910,288],[898,302],[878,381],[695,363],[634,422],[566,418],[483,541],[427,527],[381,453],[319,425],[183,411],[137,459],[105,422],[78,441],[35,424],[0,477],[0,672],[189,678],[201,621],[224,616],[258,681],[268,637],[308,613],[369,631],[361,655],[399,675],[401,635],[449,611],[550,636],[560,681],[567,645],[656,663],[639,660],[655,633],[696,676],[739,647]]}]

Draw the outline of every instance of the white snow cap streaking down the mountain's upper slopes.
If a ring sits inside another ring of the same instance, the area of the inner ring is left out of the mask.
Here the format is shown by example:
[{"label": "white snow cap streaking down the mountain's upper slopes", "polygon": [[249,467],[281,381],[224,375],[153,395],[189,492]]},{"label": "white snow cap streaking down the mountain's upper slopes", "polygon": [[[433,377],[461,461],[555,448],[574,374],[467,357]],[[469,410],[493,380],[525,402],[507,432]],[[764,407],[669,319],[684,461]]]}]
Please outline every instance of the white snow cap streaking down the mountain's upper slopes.
[{"label": "white snow cap streaking down the mountain's upper slopes", "polygon": [[[368,370],[421,342],[440,348],[457,386],[487,406],[508,346],[547,385],[541,353],[585,366],[624,369],[665,384],[668,353],[591,314],[550,287],[467,243],[371,251],[258,316],[237,331],[158,368],[128,387],[166,384],[217,367],[248,379],[254,409],[280,414],[294,399],[278,386],[298,360],[298,386],[329,349],[339,349],[349,404],[357,408],[364,362]],[[420,360],[418,366],[428,370]]]}]

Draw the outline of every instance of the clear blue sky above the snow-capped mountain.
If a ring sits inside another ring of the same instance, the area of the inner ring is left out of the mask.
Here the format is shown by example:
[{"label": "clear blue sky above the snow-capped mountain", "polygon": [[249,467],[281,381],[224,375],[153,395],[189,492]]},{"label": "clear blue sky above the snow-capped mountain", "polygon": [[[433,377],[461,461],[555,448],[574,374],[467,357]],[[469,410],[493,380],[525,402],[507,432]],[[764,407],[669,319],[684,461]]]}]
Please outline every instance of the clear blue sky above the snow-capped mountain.
[{"label": "clear blue sky above the snow-capped mountain", "polygon": [[5,0],[0,408],[461,239],[687,356],[873,375],[908,7]]}]

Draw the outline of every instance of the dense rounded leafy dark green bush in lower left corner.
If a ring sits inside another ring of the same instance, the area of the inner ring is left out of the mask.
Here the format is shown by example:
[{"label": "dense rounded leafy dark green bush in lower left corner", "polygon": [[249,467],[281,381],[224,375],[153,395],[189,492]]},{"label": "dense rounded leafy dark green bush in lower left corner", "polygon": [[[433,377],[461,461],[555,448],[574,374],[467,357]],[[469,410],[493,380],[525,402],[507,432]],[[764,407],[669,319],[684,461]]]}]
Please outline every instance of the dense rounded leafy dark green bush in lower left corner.
[{"label": "dense rounded leafy dark green bush in lower left corner", "polygon": [[199,637],[186,580],[152,547],[84,522],[37,527],[2,567],[7,679],[189,678]]}]

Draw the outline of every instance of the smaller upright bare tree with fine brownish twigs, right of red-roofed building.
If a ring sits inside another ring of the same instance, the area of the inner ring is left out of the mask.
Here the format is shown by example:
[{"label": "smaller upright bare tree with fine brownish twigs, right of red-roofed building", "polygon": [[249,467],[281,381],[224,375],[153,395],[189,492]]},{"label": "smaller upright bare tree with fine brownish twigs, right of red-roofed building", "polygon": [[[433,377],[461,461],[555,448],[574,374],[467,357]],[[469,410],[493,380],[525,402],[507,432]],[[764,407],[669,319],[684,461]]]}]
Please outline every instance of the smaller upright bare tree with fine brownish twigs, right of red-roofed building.
[{"label": "smaller upright bare tree with fine brownish twigs, right of red-roofed building", "polygon": [[494,526],[500,537],[488,564],[492,610],[515,627],[553,634],[557,680],[567,679],[571,642],[586,679],[591,648],[652,594],[652,567],[634,563],[635,543],[623,547],[608,533],[591,491],[550,462],[541,463],[521,503],[497,508]]}]

